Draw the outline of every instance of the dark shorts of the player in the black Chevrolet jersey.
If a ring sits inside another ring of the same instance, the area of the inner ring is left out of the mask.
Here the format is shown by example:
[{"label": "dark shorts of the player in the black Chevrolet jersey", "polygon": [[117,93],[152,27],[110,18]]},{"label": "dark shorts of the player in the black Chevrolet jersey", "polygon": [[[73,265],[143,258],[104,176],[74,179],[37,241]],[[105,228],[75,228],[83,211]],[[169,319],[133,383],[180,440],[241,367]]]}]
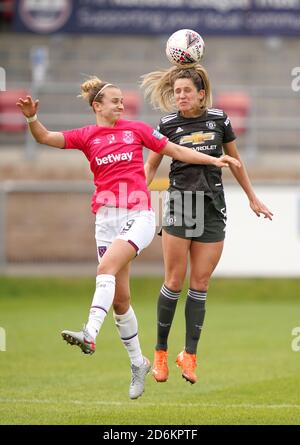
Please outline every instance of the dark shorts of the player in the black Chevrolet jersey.
[{"label": "dark shorts of the player in the black Chevrolet jersey", "polygon": [[218,193],[213,199],[199,193],[196,196],[196,193],[185,192],[183,198],[180,192],[167,192],[162,228],[170,235],[193,241],[223,241],[226,228],[224,193]]}]

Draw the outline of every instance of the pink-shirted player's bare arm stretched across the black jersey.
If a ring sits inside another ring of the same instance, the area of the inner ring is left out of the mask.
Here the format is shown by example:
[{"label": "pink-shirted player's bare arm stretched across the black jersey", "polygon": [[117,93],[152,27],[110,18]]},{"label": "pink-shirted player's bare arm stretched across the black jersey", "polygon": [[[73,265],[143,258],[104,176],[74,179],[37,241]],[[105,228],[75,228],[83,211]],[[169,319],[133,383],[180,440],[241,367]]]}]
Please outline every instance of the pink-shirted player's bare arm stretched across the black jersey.
[{"label": "pink-shirted player's bare arm stretched across the black jersey", "polygon": [[240,161],[231,156],[225,155],[220,158],[215,158],[204,153],[198,153],[190,148],[181,147],[170,141],[167,142],[167,145],[160,153],[188,164],[214,165],[215,167],[229,167],[230,165],[234,165],[235,167],[241,166]]}]

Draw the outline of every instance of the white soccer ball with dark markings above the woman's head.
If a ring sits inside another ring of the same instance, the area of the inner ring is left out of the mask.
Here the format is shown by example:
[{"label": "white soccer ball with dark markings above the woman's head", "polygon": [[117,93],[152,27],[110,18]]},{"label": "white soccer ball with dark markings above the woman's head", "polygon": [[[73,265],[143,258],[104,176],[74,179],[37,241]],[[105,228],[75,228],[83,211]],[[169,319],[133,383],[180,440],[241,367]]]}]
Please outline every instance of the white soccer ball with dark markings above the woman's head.
[{"label": "white soccer ball with dark markings above the woman's head", "polygon": [[200,34],[192,29],[180,29],[169,37],[166,55],[173,65],[195,65],[202,59],[204,47]]}]

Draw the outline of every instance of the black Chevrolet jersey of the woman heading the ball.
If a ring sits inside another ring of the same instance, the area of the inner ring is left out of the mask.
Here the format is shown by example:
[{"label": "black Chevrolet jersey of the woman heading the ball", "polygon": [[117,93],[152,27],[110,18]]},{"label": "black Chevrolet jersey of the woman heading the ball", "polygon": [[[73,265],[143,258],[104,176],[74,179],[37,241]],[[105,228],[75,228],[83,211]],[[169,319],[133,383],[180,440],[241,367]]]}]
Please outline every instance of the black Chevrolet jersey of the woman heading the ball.
[{"label": "black Chevrolet jersey of the woman heading the ball", "polygon": [[[195,118],[185,118],[179,112],[168,114],[160,120],[158,130],[171,142],[217,158],[223,155],[222,144],[236,138],[226,113],[216,108]],[[211,198],[223,191],[222,169],[213,165],[173,159],[169,178],[172,190],[203,191]]]}]

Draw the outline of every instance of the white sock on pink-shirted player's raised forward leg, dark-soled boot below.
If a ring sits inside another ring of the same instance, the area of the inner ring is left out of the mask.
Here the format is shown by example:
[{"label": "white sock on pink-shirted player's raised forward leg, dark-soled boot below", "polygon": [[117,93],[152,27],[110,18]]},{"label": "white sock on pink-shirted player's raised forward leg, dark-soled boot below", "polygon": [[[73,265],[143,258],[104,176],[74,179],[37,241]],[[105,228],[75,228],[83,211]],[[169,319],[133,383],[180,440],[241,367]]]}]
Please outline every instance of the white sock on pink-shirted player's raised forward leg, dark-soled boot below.
[{"label": "white sock on pink-shirted player's raised forward leg, dark-soled boot below", "polygon": [[96,290],[92,301],[89,320],[86,325],[88,333],[96,338],[106,317],[114,296],[116,279],[113,275],[101,274],[96,278]]}]

